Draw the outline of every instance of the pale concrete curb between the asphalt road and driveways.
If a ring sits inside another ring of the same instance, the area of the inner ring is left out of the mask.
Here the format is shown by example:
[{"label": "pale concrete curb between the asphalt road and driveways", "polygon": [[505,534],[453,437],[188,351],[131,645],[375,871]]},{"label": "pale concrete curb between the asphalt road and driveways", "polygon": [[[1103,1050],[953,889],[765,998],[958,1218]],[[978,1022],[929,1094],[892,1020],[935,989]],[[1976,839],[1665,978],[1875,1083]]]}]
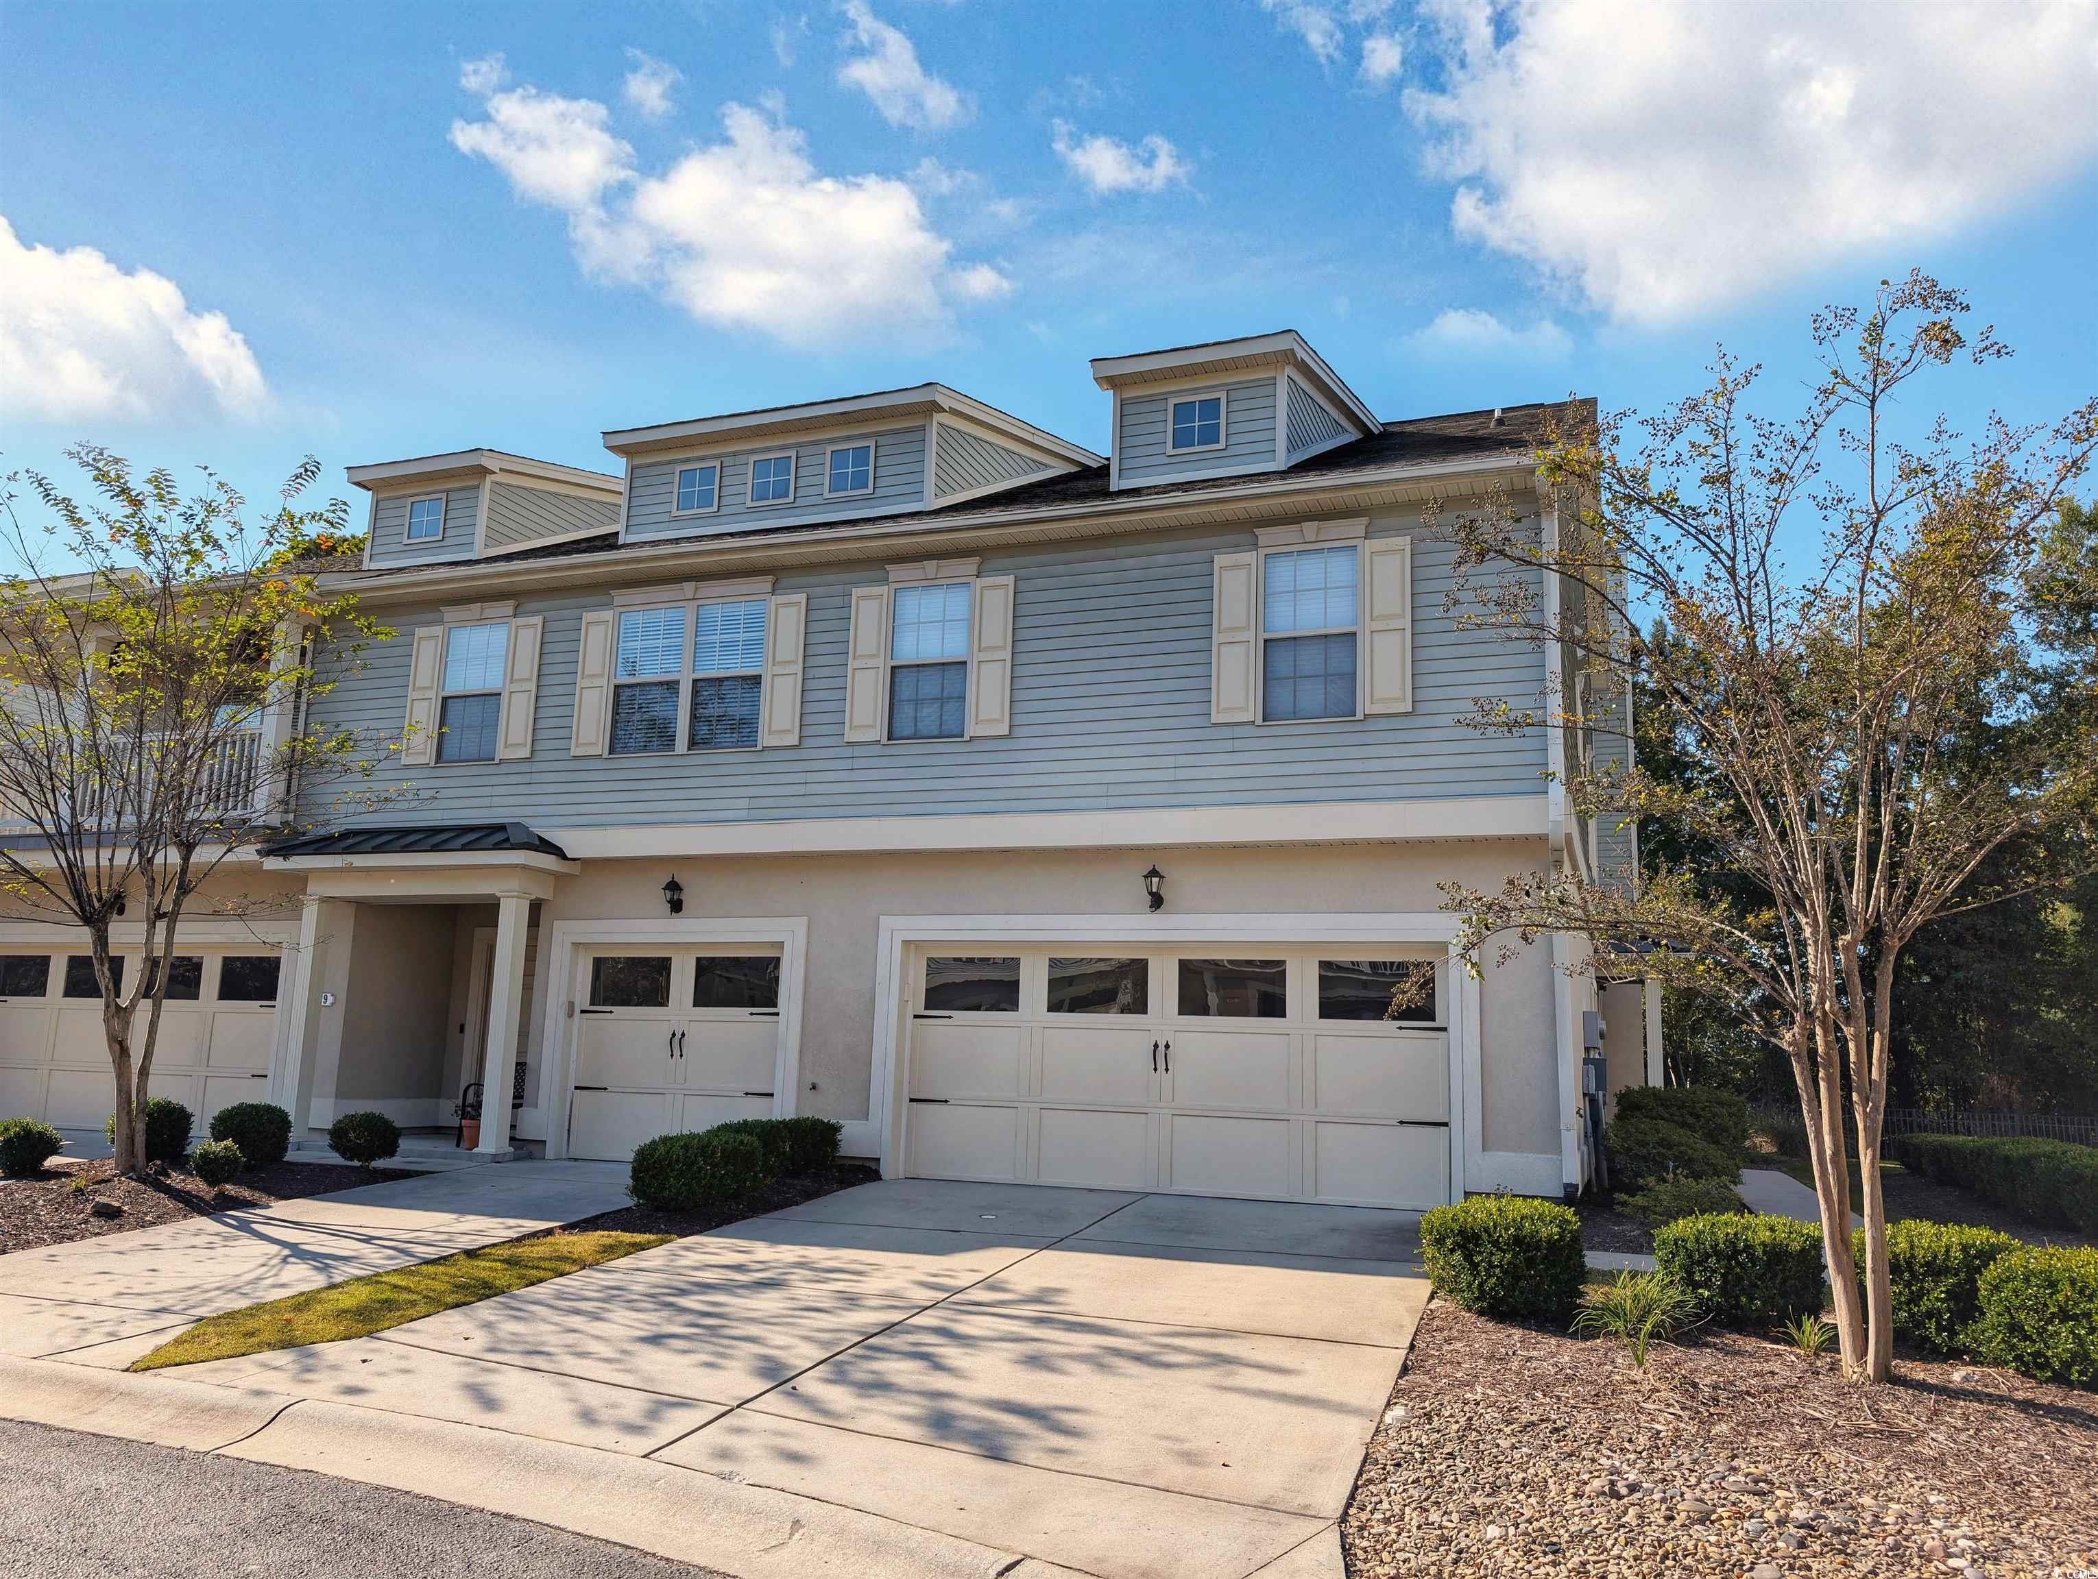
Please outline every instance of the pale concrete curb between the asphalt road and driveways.
[{"label": "pale concrete curb between the asphalt road and driveways", "polygon": [[741,1579],[1080,1579],[877,1514],[445,1420],[0,1357],[0,1415],[413,1491]]}]

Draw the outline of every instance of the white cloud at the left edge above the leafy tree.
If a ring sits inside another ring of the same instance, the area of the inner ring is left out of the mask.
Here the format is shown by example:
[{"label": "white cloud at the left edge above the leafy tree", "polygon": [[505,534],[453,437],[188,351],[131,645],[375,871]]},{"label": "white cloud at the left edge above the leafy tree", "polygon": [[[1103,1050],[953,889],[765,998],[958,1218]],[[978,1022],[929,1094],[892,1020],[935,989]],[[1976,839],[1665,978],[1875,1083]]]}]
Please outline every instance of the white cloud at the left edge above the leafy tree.
[{"label": "white cloud at the left edge above the leafy tree", "polygon": [[212,405],[269,411],[269,386],[224,312],[195,312],[151,268],[94,247],[23,245],[0,216],[0,417],[145,419]]}]

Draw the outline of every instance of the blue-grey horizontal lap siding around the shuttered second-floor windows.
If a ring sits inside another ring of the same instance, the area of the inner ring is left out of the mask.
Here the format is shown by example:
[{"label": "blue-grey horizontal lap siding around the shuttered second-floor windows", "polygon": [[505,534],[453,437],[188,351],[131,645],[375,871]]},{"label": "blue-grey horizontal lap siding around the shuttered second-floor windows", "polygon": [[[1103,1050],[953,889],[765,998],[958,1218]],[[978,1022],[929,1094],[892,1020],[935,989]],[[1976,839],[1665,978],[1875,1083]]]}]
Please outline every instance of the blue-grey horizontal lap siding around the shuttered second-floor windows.
[{"label": "blue-grey horizontal lap siding around the shuttered second-floor windows", "polygon": [[[422,795],[365,822],[520,818],[539,828],[946,812],[1091,812],[1288,805],[1542,793],[1542,734],[1475,734],[1456,719],[1479,696],[1540,700],[1542,656],[1441,612],[1450,547],[1416,539],[1414,713],[1290,726],[1208,721],[1211,560],[1250,533],[1053,547],[984,558],[1015,577],[1013,732],[984,740],[843,742],[850,589],[881,566],[783,575],[810,593],[801,744],[684,757],[571,757],[575,658],[602,593],[527,600],[545,614],[533,759],[401,774]],[[409,631],[436,610],[386,612],[399,640],[321,698],[319,723],[401,730]]]}]

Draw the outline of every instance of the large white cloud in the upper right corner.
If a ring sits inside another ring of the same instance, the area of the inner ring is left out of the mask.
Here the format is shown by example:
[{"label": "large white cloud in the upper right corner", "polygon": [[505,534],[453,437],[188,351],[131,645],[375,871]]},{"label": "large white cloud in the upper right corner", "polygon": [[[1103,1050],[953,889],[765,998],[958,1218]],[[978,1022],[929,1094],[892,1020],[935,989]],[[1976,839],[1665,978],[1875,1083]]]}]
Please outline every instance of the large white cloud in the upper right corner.
[{"label": "large white cloud in the upper right corner", "polygon": [[1433,13],[1408,109],[1458,235],[1622,321],[1857,254],[1905,264],[2098,153],[2098,6],[1508,6]]}]

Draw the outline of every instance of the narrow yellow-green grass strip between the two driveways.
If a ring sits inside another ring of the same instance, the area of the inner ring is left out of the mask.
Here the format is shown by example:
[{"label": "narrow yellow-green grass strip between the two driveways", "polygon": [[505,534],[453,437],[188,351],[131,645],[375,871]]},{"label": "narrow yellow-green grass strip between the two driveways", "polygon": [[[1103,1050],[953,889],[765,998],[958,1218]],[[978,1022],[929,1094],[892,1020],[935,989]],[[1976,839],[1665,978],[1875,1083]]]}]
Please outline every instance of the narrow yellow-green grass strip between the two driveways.
[{"label": "narrow yellow-green grass strip between the two driveways", "polygon": [[464,1250],[420,1267],[352,1277],[348,1283],[206,1317],[136,1361],[132,1369],[155,1371],[164,1365],[197,1365],[206,1359],[365,1338],[403,1321],[579,1273],[583,1267],[619,1260],[636,1250],[652,1250],[669,1237],[667,1233],[552,1233]]}]

